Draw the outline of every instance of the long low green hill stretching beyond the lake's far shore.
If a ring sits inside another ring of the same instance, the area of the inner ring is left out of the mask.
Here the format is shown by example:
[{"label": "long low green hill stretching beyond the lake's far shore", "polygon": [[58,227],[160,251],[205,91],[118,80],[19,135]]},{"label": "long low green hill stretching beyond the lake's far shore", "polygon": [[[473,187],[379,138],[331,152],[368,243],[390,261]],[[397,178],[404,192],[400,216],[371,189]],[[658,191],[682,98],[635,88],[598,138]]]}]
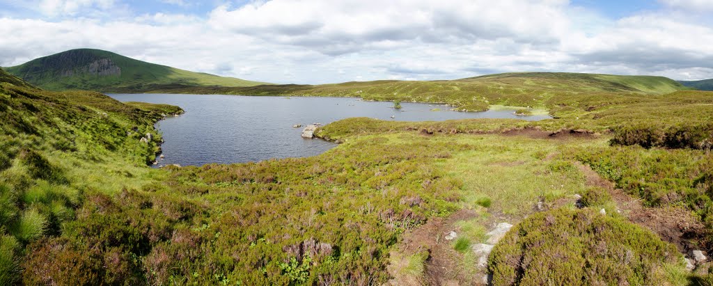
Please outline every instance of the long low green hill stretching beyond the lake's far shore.
[{"label": "long low green hill stretching beyond the lake's far shore", "polygon": [[255,96],[354,96],[374,101],[448,103],[467,111],[488,106],[547,108],[548,101],[583,93],[665,94],[688,89],[660,76],[589,73],[501,73],[452,81],[365,81],[324,85],[273,85],[237,88],[195,87],[171,93]]}]

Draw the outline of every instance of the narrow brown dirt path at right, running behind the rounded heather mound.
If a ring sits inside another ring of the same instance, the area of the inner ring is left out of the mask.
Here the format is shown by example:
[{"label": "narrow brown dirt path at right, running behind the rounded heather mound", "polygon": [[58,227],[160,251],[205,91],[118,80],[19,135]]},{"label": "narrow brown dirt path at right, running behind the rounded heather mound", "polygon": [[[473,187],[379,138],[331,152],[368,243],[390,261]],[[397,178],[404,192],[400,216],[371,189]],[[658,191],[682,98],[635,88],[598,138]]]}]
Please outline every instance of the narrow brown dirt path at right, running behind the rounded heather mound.
[{"label": "narrow brown dirt path at right, running behind the rounded heather mound", "polygon": [[584,173],[588,185],[609,190],[621,214],[632,223],[652,230],[662,240],[676,245],[682,253],[689,253],[696,249],[708,249],[708,245],[701,245],[703,241],[707,241],[704,226],[694,218],[689,210],[671,206],[647,208],[640,199],[632,198],[622,190],[615,188],[614,183],[602,178],[589,166],[578,164],[578,167]]}]

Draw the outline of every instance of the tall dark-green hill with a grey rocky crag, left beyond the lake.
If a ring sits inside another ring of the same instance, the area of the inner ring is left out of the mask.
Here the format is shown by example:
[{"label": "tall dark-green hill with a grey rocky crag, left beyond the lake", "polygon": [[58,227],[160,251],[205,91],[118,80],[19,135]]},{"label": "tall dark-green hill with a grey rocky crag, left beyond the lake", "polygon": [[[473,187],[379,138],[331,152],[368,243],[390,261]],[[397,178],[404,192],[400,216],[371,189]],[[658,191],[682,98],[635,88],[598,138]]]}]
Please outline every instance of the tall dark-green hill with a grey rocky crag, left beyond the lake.
[{"label": "tall dark-green hill with a grey rocky crag, left beyond the lake", "polygon": [[190,86],[256,86],[256,81],[184,71],[118,55],[81,48],[36,58],[6,71],[51,91],[69,89],[143,92]]}]

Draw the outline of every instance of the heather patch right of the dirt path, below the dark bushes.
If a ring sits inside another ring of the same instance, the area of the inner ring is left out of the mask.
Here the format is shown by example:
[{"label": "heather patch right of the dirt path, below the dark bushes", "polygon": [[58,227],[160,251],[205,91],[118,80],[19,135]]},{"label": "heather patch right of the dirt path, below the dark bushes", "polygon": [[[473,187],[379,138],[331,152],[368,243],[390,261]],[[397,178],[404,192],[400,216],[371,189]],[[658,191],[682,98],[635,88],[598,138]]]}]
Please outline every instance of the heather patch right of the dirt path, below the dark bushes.
[{"label": "heather patch right of the dirt path, below the dark bushes", "polygon": [[713,155],[704,150],[639,146],[573,148],[568,156],[590,165],[617,188],[649,206],[687,205],[713,230]]}]

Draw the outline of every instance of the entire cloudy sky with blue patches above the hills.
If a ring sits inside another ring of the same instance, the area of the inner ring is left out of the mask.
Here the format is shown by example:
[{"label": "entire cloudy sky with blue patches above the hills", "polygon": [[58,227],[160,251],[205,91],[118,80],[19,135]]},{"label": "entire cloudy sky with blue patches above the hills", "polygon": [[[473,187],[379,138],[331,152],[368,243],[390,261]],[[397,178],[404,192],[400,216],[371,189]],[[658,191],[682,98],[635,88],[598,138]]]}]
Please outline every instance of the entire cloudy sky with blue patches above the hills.
[{"label": "entire cloudy sky with blue patches above the hills", "polygon": [[713,0],[0,0],[0,66],[99,48],[271,83],[713,78]]}]

